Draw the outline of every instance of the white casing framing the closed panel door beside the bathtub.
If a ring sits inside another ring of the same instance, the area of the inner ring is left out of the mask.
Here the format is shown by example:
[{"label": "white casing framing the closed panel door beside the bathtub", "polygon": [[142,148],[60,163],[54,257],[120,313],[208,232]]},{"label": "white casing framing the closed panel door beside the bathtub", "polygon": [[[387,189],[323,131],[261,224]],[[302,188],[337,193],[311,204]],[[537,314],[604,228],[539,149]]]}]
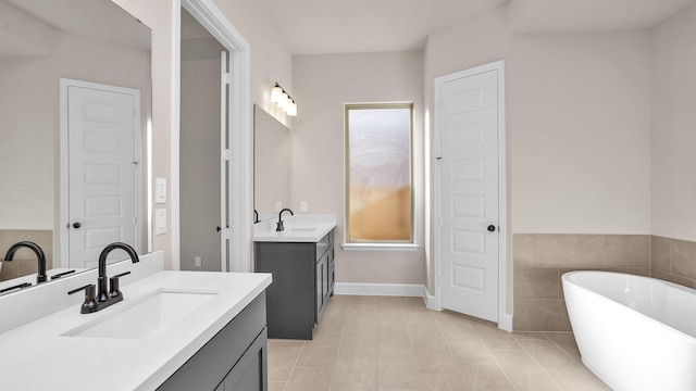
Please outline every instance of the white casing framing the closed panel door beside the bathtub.
[{"label": "white casing framing the closed panel door beside the bathtub", "polygon": [[[435,123],[434,123],[434,153],[435,156],[440,155],[442,124],[440,124],[440,102],[439,92],[443,83],[451,81],[458,78],[473,76],[480,73],[497,71],[498,74],[498,222],[500,229],[500,240],[498,242],[498,327],[512,331],[512,315],[508,314],[508,292],[511,291],[511,262],[508,260],[508,247],[510,243],[510,232],[508,227],[508,194],[507,194],[507,131],[506,131],[506,110],[505,110],[505,62],[502,60],[489,64],[476,66],[470,70],[452,73],[449,75],[435,78]],[[435,161],[435,191],[433,198],[433,211],[435,214],[434,230],[434,266],[435,266],[435,303],[437,310],[443,310],[440,305],[440,164]]]}]

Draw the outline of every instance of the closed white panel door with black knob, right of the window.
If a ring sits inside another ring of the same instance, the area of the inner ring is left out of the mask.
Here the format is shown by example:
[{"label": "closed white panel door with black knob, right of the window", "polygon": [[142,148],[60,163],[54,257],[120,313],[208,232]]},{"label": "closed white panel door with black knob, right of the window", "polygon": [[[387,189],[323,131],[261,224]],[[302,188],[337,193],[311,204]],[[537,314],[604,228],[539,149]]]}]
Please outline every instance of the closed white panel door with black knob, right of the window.
[{"label": "closed white panel door with black knob, right of the window", "polygon": [[439,85],[440,306],[498,320],[498,71]]}]

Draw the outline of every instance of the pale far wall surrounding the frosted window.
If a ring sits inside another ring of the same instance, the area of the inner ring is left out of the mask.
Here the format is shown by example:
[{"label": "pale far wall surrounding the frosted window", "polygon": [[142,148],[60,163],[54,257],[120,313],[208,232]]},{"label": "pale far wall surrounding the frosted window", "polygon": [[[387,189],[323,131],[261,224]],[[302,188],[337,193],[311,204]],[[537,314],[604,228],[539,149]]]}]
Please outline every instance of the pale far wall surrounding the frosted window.
[{"label": "pale far wall surrounding the frosted window", "polygon": [[[300,112],[293,127],[293,200],[310,213],[334,213],[336,280],[424,283],[423,53],[296,55],[294,86]],[[345,252],[344,103],[414,102],[415,252]],[[299,210],[299,207],[297,207]]]}]

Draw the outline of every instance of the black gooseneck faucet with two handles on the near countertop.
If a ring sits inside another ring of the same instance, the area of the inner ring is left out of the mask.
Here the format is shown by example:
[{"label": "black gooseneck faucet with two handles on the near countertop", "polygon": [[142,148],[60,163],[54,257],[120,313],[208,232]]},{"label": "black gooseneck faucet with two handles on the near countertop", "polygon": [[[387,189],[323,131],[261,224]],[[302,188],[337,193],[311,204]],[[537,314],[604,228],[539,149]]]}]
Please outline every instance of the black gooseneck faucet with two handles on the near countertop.
[{"label": "black gooseneck faucet with two handles on the near countertop", "polygon": [[111,304],[117,303],[123,300],[123,294],[119,290],[119,278],[130,274],[130,272],[122,273],[117,276],[109,278],[110,288],[107,289],[107,257],[109,253],[115,249],[121,249],[128,253],[133,263],[140,262],[135,249],[129,244],[115,242],[107,245],[99,254],[99,277],[97,278],[97,293],[95,294],[95,285],[90,283],[77,289],[74,289],[67,294],[73,294],[82,290],[85,291],[85,302],[83,303],[79,313],[90,314],[99,310],[103,310]]}]

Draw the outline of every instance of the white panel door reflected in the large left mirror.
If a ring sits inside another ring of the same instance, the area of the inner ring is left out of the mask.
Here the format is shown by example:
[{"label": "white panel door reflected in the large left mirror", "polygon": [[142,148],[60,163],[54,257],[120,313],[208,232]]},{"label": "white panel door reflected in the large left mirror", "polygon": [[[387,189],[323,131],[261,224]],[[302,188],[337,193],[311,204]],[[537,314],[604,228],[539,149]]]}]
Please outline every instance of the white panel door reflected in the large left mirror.
[{"label": "white panel door reflected in the large left mirror", "polygon": [[139,92],[69,85],[66,99],[70,267],[94,267],[109,243],[138,248]]}]

